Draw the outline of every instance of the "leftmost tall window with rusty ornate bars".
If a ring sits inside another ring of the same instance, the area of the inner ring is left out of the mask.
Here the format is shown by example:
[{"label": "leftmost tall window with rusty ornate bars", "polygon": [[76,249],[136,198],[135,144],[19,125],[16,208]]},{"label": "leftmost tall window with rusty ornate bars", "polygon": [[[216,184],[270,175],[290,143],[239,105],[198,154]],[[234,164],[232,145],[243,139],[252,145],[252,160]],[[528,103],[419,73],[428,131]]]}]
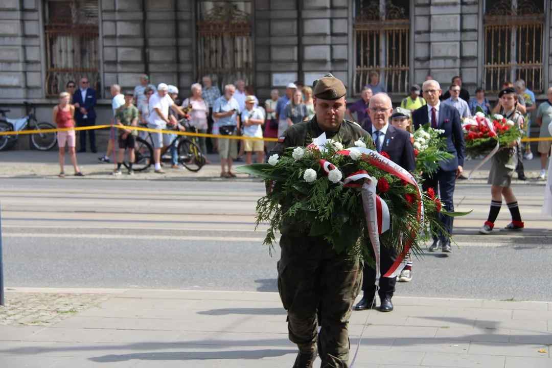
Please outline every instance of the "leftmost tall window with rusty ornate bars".
[{"label": "leftmost tall window with rusty ornate bars", "polygon": [[45,6],[46,96],[65,91],[68,81],[88,78],[99,90],[98,0],[48,0]]}]

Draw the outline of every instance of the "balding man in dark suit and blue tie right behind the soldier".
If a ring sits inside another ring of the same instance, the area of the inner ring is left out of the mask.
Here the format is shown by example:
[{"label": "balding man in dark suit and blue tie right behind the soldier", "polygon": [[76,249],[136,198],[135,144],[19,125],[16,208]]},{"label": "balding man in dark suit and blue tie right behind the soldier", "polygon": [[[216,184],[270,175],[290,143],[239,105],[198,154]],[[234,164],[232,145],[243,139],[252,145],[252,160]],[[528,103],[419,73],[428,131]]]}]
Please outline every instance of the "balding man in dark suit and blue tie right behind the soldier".
[{"label": "balding man in dark suit and blue tie right behind the soldier", "polygon": [[[399,164],[405,170],[410,172],[416,170],[414,147],[412,147],[410,133],[389,124],[389,119],[393,114],[389,96],[385,93],[374,95],[370,99],[368,114],[370,114],[372,124],[367,126],[366,130],[371,134],[376,150],[386,152],[392,162]],[[381,247],[380,253],[380,271],[384,275],[395,263],[398,254],[396,249],[385,246]],[[362,280],[364,296],[355,306],[355,310],[362,311],[375,307],[376,276],[376,270],[364,264]],[[380,277],[378,291],[381,300],[380,311],[391,312],[393,310],[391,298],[395,292],[396,282],[397,278]]]}]

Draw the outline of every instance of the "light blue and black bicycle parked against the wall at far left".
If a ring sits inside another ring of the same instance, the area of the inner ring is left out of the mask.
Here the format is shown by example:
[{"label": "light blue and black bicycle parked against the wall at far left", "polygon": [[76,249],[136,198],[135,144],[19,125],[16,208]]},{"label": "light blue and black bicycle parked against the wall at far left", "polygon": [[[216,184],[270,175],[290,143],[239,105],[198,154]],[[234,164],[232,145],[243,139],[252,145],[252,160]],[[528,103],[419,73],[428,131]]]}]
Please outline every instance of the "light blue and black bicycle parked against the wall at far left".
[{"label": "light blue and black bicycle parked against the wall at far left", "polygon": [[[29,127],[30,130],[37,130],[38,132],[31,134],[31,142],[33,146],[39,151],[48,151],[56,145],[57,134],[55,132],[40,132],[40,130],[46,129],[56,129],[54,124],[50,122],[37,122],[36,121],[36,107],[35,104],[24,102],[25,111],[27,115],[24,118],[19,119],[8,119],[6,116],[10,110],[0,109],[0,132],[9,132],[9,131],[22,131]],[[0,135],[0,151],[11,150],[17,141],[19,140],[19,135]]]}]

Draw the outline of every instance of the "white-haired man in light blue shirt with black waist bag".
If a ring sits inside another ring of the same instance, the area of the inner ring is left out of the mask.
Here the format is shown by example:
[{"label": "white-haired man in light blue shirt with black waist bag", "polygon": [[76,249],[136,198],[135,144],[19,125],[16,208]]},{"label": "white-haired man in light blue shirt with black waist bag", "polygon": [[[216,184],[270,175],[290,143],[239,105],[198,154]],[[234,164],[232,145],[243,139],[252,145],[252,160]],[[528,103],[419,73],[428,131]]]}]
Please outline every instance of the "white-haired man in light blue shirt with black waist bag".
[{"label": "white-haired man in light blue shirt with black waist bag", "polygon": [[[235,98],[236,87],[233,84],[227,84],[224,87],[224,95],[215,100],[213,106],[213,118],[219,125],[219,134],[227,136],[237,135],[240,130],[240,115],[238,110],[240,106]],[[232,172],[232,159],[237,157],[237,140],[231,138],[219,138],[219,156],[221,178],[233,178],[236,174]],[[228,170],[226,170],[226,164]]]}]

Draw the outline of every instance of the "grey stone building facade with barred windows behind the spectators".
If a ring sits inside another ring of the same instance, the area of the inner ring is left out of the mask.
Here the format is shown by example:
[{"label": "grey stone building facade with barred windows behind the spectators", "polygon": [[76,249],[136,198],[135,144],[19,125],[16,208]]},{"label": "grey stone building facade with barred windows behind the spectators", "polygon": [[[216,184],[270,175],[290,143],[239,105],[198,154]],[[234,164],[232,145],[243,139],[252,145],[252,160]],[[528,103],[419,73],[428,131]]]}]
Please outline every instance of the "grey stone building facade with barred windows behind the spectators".
[{"label": "grey stone building facade with barred windows behind the spectators", "polygon": [[[0,0],[0,105],[56,102],[82,76],[109,116],[109,86],[220,86],[259,99],[331,71],[355,97],[371,71],[394,98],[428,75],[473,93],[552,85],[550,0]],[[48,113],[49,114],[49,113]],[[47,118],[46,118],[47,120]]]}]

